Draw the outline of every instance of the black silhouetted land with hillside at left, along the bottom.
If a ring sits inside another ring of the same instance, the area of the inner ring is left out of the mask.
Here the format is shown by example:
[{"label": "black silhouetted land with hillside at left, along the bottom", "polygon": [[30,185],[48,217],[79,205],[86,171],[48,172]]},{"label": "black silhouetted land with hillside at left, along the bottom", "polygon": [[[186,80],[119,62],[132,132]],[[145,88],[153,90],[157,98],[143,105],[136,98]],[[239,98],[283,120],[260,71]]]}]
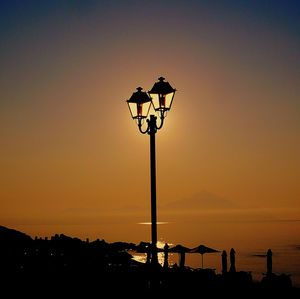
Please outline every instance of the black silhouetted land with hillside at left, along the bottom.
[{"label": "black silhouetted land with hillside at left, along the bottom", "polygon": [[31,239],[0,226],[0,298],[300,298],[288,275],[141,264],[143,245],[83,242],[64,235]]}]

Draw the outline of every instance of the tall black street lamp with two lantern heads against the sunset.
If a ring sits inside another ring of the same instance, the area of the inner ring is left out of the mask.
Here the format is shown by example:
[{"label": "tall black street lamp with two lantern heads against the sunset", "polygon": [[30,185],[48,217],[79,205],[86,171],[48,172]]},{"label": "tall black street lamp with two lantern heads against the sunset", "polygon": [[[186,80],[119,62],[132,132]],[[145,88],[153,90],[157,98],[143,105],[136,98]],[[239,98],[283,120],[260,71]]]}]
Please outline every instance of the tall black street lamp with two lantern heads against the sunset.
[{"label": "tall black street lamp with two lantern heads against the sunset", "polygon": [[[132,94],[127,104],[131,116],[136,120],[139,131],[142,134],[150,136],[150,176],[151,176],[151,263],[158,264],[157,259],[157,217],[156,217],[156,158],[155,158],[155,133],[163,127],[164,119],[167,112],[171,109],[176,89],[171,87],[169,82],[165,82],[165,78],[160,77],[159,81],[154,83],[152,89],[148,93],[143,92],[141,87]],[[150,106],[157,112],[160,118],[160,124],[157,125],[157,116],[148,114]],[[146,129],[142,126],[147,122]]]}]

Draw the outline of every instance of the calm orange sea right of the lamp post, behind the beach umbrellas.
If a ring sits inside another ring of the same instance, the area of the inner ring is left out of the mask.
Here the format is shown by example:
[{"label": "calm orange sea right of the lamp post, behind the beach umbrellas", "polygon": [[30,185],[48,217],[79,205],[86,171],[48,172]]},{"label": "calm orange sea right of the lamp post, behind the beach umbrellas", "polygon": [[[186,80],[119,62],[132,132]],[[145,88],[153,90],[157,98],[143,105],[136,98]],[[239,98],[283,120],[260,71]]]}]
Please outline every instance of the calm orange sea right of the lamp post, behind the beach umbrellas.
[{"label": "calm orange sea right of the lamp post, behind the beach umbrellas", "polygon": [[[171,240],[173,245],[193,248],[203,244],[217,249],[220,252],[203,256],[204,268],[215,269],[216,273],[221,273],[223,250],[227,251],[229,268],[229,251],[233,247],[237,270],[251,272],[255,280],[261,280],[266,272],[266,257],[262,255],[270,248],[273,252],[273,272],[291,275],[293,285],[300,287],[300,221],[297,209],[294,214],[290,211],[286,215],[273,213],[269,218],[253,213],[225,216],[191,214],[180,222],[160,225],[158,246],[162,248],[166,241]],[[145,259],[145,256],[139,258]],[[187,253],[185,260],[186,266],[201,267],[200,254]],[[163,254],[160,254],[160,262],[163,263]],[[171,254],[169,262],[178,264],[178,254]]]}]

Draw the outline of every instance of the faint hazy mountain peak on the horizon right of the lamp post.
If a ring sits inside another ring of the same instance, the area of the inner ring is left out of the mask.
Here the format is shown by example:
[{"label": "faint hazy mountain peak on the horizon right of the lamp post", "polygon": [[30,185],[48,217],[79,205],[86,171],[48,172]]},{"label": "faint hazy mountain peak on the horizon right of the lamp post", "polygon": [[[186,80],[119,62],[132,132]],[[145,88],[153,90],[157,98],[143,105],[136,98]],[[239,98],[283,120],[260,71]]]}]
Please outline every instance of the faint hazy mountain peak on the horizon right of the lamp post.
[{"label": "faint hazy mountain peak on the horizon right of the lamp post", "polygon": [[173,201],[163,206],[164,209],[168,210],[194,211],[203,209],[230,209],[235,207],[236,205],[230,200],[207,191],[201,191],[190,198]]}]

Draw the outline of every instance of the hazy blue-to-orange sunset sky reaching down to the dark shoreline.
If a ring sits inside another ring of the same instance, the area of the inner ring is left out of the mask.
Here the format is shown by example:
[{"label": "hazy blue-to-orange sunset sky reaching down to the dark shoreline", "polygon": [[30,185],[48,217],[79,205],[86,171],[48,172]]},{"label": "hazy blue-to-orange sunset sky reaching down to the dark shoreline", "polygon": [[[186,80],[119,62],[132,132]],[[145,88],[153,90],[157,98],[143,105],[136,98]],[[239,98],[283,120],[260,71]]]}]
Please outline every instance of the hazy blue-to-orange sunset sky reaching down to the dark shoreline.
[{"label": "hazy blue-to-orange sunset sky reaching down to the dark shoreline", "polygon": [[149,137],[125,100],[164,76],[178,92],[156,135],[159,234],[233,241],[247,220],[295,237],[299,15],[299,1],[0,1],[1,224],[149,239]]}]

